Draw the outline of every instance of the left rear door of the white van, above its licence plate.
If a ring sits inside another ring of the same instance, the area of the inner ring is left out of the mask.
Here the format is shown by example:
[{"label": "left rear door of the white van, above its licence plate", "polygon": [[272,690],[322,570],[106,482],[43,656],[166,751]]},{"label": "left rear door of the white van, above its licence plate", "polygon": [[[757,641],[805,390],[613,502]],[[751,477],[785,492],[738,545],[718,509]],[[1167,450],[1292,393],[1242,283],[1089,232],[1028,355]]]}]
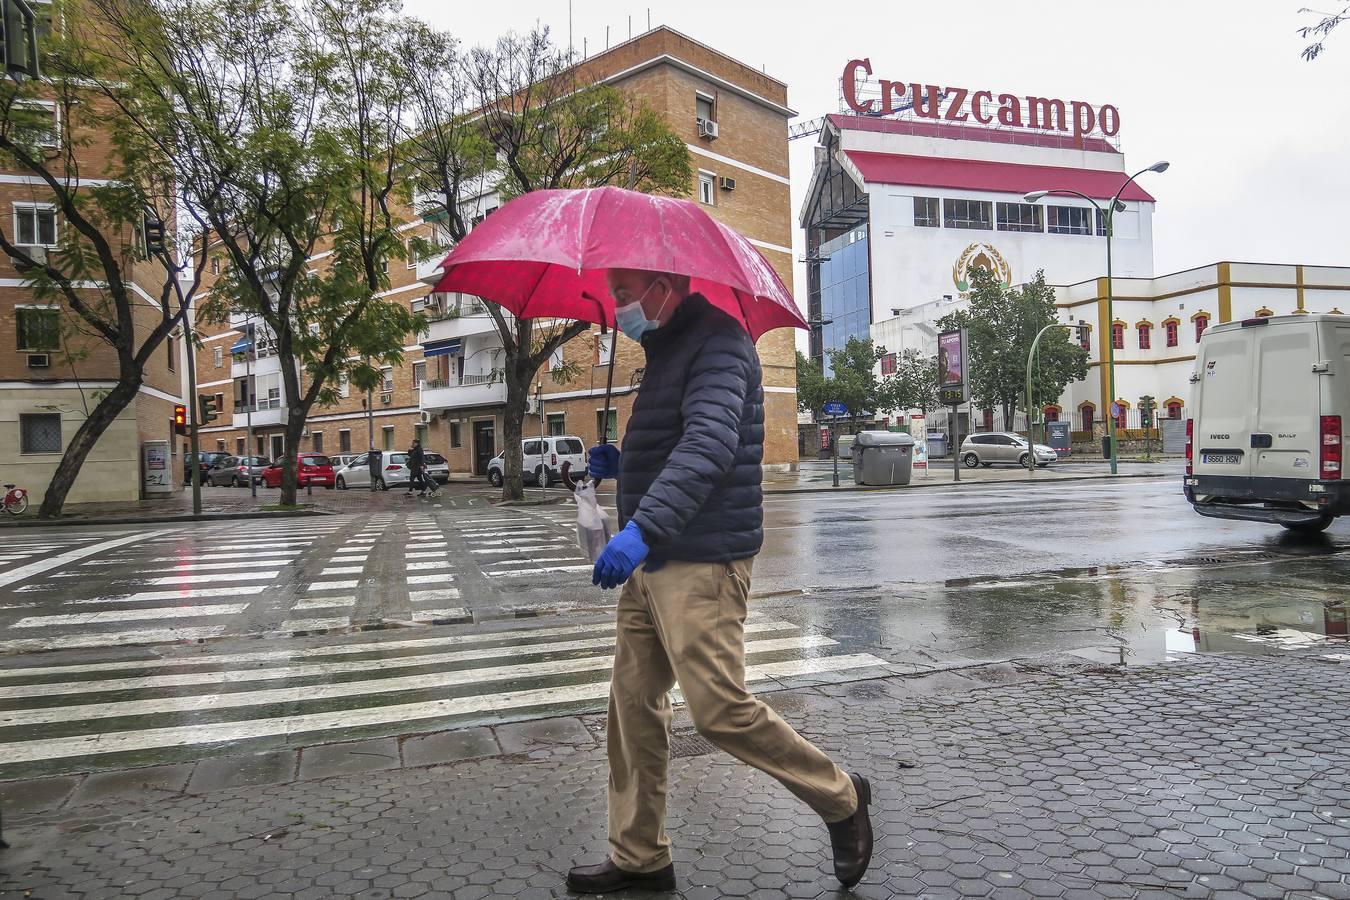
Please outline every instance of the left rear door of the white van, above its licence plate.
[{"label": "left rear door of the white van, above its licence plate", "polygon": [[1200,341],[1196,394],[1200,417],[1195,422],[1196,475],[1250,475],[1247,436],[1256,409],[1256,348],[1251,328],[1210,332]]}]

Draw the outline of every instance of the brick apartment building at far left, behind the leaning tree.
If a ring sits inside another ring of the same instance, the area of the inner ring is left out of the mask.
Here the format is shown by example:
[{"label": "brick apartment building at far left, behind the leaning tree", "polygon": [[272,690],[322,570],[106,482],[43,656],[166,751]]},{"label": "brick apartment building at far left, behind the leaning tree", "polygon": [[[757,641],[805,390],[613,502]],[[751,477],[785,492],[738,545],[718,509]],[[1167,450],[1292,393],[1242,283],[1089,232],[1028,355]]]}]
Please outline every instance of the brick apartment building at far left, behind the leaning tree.
[{"label": "brick apartment building at far left, behind the leaning tree", "polygon": [[[78,109],[78,108],[77,108]],[[77,147],[80,184],[96,185],[107,170],[109,148],[99,135],[81,130],[78,117],[57,127],[51,148],[66,139]],[[65,228],[53,194],[35,175],[0,167],[0,228],[24,248],[54,248]],[[113,247],[122,255],[139,300],[136,324],[148,331],[161,318],[153,300],[163,286],[157,262],[135,262],[131,228]],[[89,289],[89,304],[97,306]],[[84,422],[99,393],[117,379],[117,360],[108,344],[73,331],[76,314],[63,305],[35,301],[12,260],[0,259],[0,482],[30,490],[34,502],[51,482],[66,445]],[[84,327],[88,332],[88,325]],[[138,340],[139,344],[139,340]],[[167,440],[170,472],[182,479],[180,445],[173,433],[173,406],[182,403],[186,368],[181,337],[167,339],[147,366],[136,399],[104,433],[68,495],[68,502],[135,501],[140,497],[140,445]]]}]

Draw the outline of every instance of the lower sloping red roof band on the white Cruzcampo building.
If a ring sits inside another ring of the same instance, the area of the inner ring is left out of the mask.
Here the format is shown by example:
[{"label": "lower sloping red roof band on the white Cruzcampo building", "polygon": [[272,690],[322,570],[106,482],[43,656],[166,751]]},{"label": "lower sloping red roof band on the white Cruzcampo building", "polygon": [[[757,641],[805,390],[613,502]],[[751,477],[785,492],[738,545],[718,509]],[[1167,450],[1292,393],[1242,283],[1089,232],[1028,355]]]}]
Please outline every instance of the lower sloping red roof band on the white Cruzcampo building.
[{"label": "lower sloping red roof band on the white Cruzcampo building", "polygon": [[[1127,177],[1125,173],[1099,169],[1026,166],[986,159],[941,159],[867,150],[845,150],[844,152],[863,173],[864,181],[882,185],[952,188],[1000,194],[1026,194],[1033,190],[1079,190],[1094,200],[1110,200]],[[1157,202],[1137,182],[1126,188],[1120,198]]]}]

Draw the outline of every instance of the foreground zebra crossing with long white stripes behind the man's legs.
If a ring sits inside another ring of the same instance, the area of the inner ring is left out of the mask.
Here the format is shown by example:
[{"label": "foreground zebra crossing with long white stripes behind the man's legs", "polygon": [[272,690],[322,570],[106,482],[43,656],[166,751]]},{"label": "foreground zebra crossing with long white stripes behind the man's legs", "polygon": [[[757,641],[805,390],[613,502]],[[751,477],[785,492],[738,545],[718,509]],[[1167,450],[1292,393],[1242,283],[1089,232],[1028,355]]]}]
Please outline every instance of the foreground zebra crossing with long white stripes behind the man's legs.
[{"label": "foreground zebra crossing with long white stripes behind the man's legs", "polygon": [[[454,607],[439,613],[462,613]],[[294,619],[293,625],[329,622]],[[306,630],[306,629],[297,629]],[[217,645],[219,646],[219,645]],[[752,617],[752,684],[856,677],[886,663]],[[613,622],[429,637],[346,636],[289,649],[0,667],[0,779],[181,761],[485,718],[602,710]]]}]

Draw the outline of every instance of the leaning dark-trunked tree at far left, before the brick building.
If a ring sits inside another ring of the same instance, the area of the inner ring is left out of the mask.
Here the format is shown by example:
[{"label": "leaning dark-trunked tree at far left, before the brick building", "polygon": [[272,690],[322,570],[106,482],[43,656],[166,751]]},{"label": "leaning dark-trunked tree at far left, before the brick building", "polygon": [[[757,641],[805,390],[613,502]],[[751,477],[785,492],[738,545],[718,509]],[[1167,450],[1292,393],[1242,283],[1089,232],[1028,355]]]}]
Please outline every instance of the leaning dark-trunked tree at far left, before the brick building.
[{"label": "leaning dark-trunked tree at far left, before the brick building", "polygon": [[[53,205],[54,243],[42,247],[40,236],[23,242],[0,231],[0,251],[35,300],[59,310],[68,360],[104,344],[116,358],[117,383],[93,409],[84,401],[85,420],[43,494],[43,518],[61,514],[90,451],[140,391],[146,364],[181,327],[201,271],[192,264],[190,224],[174,233],[171,165],[120,115],[136,103],[136,88],[116,59],[90,53],[86,38],[96,23],[85,8],[59,4],[55,15],[62,27],[43,38],[43,78],[0,82],[0,159],[28,174],[35,201]],[[84,173],[84,157],[97,157],[100,170]],[[165,224],[163,246],[146,246],[147,219]],[[153,291],[139,286],[138,274]]]}]

